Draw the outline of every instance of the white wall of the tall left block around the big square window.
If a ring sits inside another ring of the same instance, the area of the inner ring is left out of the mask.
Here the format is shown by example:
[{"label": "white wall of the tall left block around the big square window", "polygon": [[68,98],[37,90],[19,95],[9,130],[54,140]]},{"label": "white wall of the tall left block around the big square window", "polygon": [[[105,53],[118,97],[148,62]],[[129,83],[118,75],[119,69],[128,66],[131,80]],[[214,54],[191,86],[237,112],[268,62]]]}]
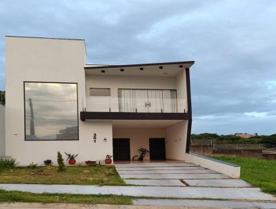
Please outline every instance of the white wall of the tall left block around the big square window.
[{"label": "white wall of the tall left block around the big square window", "polygon": [[48,158],[56,162],[57,150],[78,153],[77,161],[112,154],[110,121],[79,120],[79,140],[24,140],[23,82],[77,82],[79,112],[85,98],[85,62],[83,40],[6,37],[6,155],[17,158],[19,165],[42,164]]}]

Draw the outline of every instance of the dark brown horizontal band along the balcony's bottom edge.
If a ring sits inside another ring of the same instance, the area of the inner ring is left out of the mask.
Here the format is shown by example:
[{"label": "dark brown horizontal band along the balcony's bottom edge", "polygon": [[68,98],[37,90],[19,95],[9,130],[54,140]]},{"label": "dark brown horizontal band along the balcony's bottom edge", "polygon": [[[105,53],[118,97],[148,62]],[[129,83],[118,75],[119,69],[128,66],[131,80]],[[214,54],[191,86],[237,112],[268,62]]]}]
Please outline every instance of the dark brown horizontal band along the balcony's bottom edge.
[{"label": "dark brown horizontal band along the balcony's bottom edge", "polygon": [[188,120],[188,113],[122,113],[81,111],[81,120]]}]

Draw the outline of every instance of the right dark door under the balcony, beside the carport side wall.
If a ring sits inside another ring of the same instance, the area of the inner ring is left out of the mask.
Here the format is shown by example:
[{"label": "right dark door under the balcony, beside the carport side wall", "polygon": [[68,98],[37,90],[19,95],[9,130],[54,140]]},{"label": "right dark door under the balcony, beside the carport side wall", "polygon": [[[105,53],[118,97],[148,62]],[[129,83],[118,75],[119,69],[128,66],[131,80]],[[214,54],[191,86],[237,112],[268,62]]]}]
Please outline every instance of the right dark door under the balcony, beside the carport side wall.
[{"label": "right dark door under the balcony, beside the carport side wall", "polygon": [[166,160],[165,138],[150,138],[150,160]]}]

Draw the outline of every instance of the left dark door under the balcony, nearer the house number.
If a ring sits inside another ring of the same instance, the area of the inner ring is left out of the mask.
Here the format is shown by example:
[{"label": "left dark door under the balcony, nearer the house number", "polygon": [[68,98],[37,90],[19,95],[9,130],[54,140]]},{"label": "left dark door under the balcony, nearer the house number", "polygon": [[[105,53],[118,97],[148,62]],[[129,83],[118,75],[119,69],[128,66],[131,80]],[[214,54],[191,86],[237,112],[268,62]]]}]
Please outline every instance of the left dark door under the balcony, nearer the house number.
[{"label": "left dark door under the balcony, nearer the house number", "polygon": [[129,138],[113,138],[114,161],[130,161]]}]

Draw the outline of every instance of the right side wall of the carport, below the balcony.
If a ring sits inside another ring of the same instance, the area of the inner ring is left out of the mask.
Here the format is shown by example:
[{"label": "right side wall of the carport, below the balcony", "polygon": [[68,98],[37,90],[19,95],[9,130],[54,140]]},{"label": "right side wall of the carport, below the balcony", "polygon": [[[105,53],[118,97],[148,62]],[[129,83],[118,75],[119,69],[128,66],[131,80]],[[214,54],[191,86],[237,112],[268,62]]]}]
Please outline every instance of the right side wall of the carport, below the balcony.
[{"label": "right side wall of the carport, below the balcony", "polygon": [[166,158],[184,160],[188,120],[166,128]]}]

